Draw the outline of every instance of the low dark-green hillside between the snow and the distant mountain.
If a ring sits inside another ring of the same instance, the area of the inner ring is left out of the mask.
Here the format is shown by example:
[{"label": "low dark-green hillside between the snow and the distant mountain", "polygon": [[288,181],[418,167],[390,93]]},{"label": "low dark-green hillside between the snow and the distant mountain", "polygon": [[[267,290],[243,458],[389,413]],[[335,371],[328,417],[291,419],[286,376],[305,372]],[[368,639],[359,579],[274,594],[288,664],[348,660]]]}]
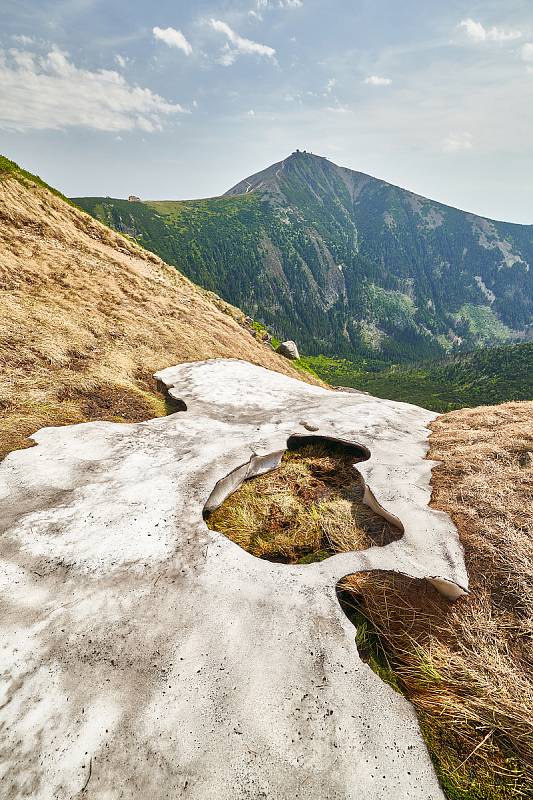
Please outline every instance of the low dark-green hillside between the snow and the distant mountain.
[{"label": "low dark-green hillside between the snow and the distant mountain", "polygon": [[533,342],[417,365],[388,366],[324,356],[304,358],[302,362],[334,386],[362,389],[433,411],[533,399]]}]

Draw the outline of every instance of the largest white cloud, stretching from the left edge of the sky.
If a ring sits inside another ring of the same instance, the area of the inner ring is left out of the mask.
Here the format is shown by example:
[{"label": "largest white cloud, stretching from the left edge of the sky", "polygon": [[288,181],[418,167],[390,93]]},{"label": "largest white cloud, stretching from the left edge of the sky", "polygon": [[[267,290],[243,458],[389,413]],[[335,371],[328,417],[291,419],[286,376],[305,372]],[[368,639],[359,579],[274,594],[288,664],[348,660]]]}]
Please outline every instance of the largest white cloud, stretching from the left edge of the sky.
[{"label": "largest white cloud, stretching from the left edge of the sky", "polygon": [[66,53],[44,57],[0,51],[0,128],[100,131],[160,130],[163,119],[183,112],[150,89],[132,86],[114,70],[90,71],[75,66]]}]

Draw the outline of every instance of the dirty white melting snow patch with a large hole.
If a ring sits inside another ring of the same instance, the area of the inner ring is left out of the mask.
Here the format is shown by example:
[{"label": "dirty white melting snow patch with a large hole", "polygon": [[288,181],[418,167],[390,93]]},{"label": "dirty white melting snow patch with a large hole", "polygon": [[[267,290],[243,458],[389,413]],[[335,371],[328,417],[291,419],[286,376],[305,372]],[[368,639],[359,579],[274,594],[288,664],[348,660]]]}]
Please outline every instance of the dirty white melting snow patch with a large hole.
[{"label": "dirty white melting snow patch with a large hole", "polygon": [[[335,594],[368,569],[466,588],[428,507],[434,415],[241,361],[157,377],[187,411],[44,429],[0,465],[3,800],[442,798]],[[207,529],[310,430],[368,450],[366,499],[402,539],[287,566]]]}]

